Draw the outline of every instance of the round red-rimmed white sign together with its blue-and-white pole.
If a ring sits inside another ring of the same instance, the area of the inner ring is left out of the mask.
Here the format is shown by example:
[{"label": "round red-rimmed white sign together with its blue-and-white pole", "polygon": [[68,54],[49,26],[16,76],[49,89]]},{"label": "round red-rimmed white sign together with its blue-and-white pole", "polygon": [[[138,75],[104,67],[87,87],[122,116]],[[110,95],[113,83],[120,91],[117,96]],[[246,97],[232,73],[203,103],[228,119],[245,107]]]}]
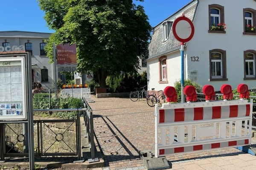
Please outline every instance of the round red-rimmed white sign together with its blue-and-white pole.
[{"label": "round red-rimmed white sign together with its blue-and-white pole", "polygon": [[189,42],[194,36],[195,28],[191,20],[182,14],[178,17],[172,26],[172,32],[176,40],[180,41],[180,53],[181,53],[181,102],[185,102],[184,96],[184,44]]}]

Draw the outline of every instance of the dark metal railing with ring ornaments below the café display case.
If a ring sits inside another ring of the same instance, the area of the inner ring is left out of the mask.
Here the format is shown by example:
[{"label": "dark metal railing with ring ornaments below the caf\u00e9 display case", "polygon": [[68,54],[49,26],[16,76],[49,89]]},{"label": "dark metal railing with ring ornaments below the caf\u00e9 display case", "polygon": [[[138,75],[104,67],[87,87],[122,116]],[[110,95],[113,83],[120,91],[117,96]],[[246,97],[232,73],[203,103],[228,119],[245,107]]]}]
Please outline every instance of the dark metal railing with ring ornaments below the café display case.
[{"label": "dark metal railing with ring ornaments below the caf\u00e9 display case", "polygon": [[[46,119],[46,120],[33,120],[34,123],[34,141],[35,141],[35,156],[78,156],[82,159],[81,153],[81,122],[79,111],[83,111],[84,125],[88,143],[90,144],[91,159],[88,162],[99,161],[95,158],[95,143],[94,143],[94,130],[93,130],[93,110],[88,105],[85,97],[82,98],[84,108],[76,109],[37,109],[33,112],[62,112],[62,111],[77,111],[76,119]],[[26,136],[28,132],[24,131],[25,123],[19,122],[1,122],[0,123],[0,156],[1,160],[5,157],[15,156],[23,157],[29,156],[26,149]],[[26,128],[25,128],[26,129]],[[8,130],[8,132],[6,132]],[[6,136],[5,134],[8,133]],[[70,138],[70,135],[74,138]],[[9,140],[6,140],[6,137]],[[73,140],[70,144],[70,140]],[[6,143],[5,141],[8,141]],[[6,149],[5,145],[10,147]],[[19,153],[13,153],[12,150],[16,148]],[[61,148],[60,150],[53,151],[52,148]],[[23,153],[20,153],[23,150]]]}]

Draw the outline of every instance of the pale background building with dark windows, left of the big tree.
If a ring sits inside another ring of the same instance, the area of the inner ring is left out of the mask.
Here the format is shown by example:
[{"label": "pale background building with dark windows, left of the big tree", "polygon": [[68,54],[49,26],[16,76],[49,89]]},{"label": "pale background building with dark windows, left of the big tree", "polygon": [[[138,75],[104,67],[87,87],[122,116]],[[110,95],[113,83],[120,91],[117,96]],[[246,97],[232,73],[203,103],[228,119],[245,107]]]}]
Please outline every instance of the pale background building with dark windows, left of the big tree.
[{"label": "pale background building with dark windows, left of the big tree", "polygon": [[[44,51],[46,40],[51,33],[29,32],[29,31],[0,31],[0,51],[4,51],[6,46],[24,45],[25,51],[31,53],[32,62],[32,82],[40,82],[43,88],[55,88],[54,65],[49,63],[49,58]],[[2,47],[2,48],[1,48]],[[58,69],[58,68],[57,68]],[[57,77],[65,82],[64,75],[58,69]],[[86,79],[91,79],[93,74],[74,74],[73,79],[78,84],[84,84]]]}]

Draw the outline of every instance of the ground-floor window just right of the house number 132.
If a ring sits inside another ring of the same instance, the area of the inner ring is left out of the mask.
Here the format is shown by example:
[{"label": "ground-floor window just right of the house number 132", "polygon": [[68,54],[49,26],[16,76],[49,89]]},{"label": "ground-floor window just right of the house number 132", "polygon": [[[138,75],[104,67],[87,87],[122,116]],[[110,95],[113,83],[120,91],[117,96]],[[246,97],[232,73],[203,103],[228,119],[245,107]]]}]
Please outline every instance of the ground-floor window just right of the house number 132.
[{"label": "ground-floor window just right of the house number 132", "polygon": [[209,51],[210,81],[227,80],[226,51],[213,49]]}]

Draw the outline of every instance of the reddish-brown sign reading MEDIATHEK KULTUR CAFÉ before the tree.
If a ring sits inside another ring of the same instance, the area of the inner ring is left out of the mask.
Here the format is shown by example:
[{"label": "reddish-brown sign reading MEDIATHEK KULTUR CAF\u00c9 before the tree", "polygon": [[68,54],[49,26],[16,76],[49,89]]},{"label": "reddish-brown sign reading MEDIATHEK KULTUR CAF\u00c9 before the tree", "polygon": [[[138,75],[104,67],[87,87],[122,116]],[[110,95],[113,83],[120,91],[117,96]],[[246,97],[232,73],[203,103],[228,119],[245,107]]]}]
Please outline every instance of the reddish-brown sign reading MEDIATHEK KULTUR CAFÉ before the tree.
[{"label": "reddish-brown sign reading MEDIATHEK KULTUR CAF\u00c9 before the tree", "polygon": [[70,45],[63,43],[57,45],[57,64],[58,65],[71,65],[77,64],[76,62],[76,44]]}]

